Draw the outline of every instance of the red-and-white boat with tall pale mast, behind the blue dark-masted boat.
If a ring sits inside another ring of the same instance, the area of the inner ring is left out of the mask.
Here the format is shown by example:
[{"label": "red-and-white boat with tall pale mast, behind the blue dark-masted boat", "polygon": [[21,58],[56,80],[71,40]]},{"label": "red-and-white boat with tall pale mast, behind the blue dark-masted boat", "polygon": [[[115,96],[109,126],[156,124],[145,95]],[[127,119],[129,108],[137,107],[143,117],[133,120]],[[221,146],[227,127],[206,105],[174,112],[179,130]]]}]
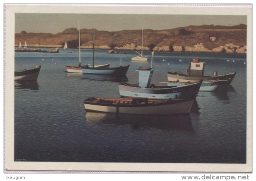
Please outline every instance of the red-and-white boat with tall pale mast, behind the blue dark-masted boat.
[{"label": "red-and-white boat with tall pale mast, behind the blue dark-masted boat", "polygon": [[97,65],[97,66],[88,66],[88,65],[84,65],[84,66],[81,66],[81,49],[80,49],[80,26],[79,26],[79,23],[78,23],[78,43],[79,43],[79,65],[78,66],[65,66],[67,72],[69,73],[83,73],[82,69],[83,68],[94,68],[94,69],[97,69],[97,68],[107,68],[109,67],[110,64],[103,64],[103,65]]}]

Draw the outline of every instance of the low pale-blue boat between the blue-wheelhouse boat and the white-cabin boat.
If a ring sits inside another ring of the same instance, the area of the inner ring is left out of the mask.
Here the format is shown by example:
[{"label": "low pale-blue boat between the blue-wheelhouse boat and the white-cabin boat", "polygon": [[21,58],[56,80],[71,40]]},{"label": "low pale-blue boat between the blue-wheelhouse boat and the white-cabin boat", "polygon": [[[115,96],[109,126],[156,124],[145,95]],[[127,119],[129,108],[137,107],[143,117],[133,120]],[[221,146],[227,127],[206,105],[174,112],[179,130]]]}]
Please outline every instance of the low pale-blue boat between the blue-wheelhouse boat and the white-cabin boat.
[{"label": "low pale-blue boat between the blue-wheelhouse boat and the white-cabin boat", "polygon": [[[230,85],[231,79],[226,80],[209,80],[209,81],[203,81],[199,91],[216,91],[216,90],[225,90],[225,87]],[[177,82],[177,81],[170,81],[170,82],[160,82],[160,83],[166,83],[168,86],[182,86],[187,85],[195,82]]]}]

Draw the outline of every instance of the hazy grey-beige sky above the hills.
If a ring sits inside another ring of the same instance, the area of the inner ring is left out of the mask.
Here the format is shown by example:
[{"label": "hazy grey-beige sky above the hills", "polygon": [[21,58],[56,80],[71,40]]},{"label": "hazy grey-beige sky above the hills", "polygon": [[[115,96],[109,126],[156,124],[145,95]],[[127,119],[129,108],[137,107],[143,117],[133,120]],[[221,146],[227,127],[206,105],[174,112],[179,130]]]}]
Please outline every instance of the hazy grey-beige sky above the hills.
[{"label": "hazy grey-beige sky above the hills", "polygon": [[158,14],[15,14],[15,33],[59,33],[71,27],[121,31],[125,29],[172,29],[189,25],[247,24],[246,16]]}]

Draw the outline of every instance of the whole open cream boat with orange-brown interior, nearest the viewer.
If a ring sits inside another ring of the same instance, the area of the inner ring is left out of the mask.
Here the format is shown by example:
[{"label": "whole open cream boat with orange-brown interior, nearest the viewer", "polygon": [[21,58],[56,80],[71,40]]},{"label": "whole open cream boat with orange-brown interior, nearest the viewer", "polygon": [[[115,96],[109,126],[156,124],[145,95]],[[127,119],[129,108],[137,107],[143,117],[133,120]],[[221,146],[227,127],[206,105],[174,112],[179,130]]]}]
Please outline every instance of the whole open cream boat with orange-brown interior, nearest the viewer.
[{"label": "whole open cream boat with orange-brown interior, nearest the viewer", "polygon": [[189,114],[194,99],[111,99],[90,97],[84,101],[86,111],[141,115]]}]

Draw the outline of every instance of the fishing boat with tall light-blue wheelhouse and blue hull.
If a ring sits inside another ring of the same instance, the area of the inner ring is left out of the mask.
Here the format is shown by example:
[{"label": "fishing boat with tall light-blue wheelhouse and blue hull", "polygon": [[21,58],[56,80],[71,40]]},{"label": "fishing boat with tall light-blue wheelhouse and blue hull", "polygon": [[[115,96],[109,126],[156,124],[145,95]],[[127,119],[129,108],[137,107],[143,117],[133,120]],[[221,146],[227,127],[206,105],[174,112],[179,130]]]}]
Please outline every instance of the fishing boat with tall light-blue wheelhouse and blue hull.
[{"label": "fishing boat with tall light-blue wheelhouse and blue hull", "polygon": [[138,84],[121,82],[118,85],[122,98],[195,99],[202,82],[199,81],[181,86],[155,86],[154,84],[150,84],[153,75],[152,68],[139,67],[136,71],[139,72]]}]

